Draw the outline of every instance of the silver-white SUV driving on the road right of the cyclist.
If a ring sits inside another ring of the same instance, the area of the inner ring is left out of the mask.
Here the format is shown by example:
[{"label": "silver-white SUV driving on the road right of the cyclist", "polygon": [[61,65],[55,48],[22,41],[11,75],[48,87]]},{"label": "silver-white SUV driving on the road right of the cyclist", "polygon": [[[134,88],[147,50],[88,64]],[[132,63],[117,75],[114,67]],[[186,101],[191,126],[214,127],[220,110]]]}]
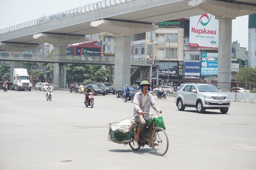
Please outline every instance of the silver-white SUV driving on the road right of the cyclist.
[{"label": "silver-white SUV driving on the road right of the cyclist", "polygon": [[206,109],[220,109],[221,113],[227,113],[230,96],[221,93],[214,85],[184,83],[176,93],[175,103],[179,111],[195,107],[198,113],[204,113]]}]

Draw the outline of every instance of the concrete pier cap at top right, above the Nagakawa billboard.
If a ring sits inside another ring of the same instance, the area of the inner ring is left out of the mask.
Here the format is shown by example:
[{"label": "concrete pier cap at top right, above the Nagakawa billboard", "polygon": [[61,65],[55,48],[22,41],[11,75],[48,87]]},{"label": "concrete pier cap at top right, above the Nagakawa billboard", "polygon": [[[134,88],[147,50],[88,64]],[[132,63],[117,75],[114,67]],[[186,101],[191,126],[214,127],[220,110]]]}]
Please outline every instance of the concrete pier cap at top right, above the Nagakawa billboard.
[{"label": "concrete pier cap at top right, above the Nagakawa billboard", "polygon": [[214,15],[216,19],[236,19],[238,16],[245,16],[256,13],[256,6],[232,2],[222,2],[217,0],[190,0],[188,5],[196,6],[196,8]]}]

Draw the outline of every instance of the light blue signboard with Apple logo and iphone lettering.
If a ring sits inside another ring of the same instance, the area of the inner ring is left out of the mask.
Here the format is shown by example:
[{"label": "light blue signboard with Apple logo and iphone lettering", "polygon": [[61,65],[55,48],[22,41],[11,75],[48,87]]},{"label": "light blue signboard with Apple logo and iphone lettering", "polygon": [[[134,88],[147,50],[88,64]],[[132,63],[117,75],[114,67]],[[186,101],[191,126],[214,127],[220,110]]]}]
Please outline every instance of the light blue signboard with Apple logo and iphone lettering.
[{"label": "light blue signboard with Apple logo and iphone lettering", "polygon": [[218,75],[218,61],[201,61],[201,75]]}]

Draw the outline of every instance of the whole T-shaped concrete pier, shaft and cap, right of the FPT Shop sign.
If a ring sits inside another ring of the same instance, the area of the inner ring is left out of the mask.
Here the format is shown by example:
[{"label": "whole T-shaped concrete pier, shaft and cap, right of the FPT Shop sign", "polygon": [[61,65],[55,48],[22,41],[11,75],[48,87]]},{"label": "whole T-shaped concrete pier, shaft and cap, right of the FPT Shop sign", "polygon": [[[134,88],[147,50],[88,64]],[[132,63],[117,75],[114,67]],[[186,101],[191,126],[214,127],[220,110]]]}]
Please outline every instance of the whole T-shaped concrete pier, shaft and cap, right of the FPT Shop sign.
[{"label": "whole T-shaped concrete pier, shaft and cap, right of the FPT Shop sign", "polygon": [[134,34],[156,30],[158,26],[110,20],[98,20],[90,25],[116,37],[114,86],[130,85],[131,37]]}]

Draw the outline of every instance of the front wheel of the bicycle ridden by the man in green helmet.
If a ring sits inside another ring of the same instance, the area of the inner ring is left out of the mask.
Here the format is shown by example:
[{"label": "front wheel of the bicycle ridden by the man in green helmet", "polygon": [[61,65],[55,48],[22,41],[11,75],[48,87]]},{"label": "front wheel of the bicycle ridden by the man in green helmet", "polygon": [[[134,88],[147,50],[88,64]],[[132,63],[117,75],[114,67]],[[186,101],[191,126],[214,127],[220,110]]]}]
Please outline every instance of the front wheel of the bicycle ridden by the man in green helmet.
[{"label": "front wheel of the bicycle ridden by the man in green helmet", "polygon": [[151,147],[156,154],[163,156],[169,147],[169,140],[163,128],[155,128],[151,135]]}]

